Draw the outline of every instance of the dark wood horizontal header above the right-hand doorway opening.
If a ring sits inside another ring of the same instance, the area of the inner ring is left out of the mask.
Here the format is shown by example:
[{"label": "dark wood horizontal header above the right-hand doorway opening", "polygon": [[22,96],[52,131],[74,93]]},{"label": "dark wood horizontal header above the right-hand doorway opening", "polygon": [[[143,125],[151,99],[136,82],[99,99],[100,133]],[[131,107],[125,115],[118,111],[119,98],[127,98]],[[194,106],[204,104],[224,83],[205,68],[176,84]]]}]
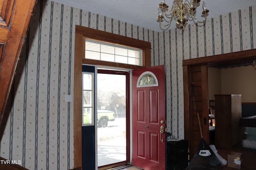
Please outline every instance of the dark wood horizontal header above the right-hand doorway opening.
[{"label": "dark wood horizontal header above the right-hand doorway opening", "polygon": [[226,53],[220,55],[212,55],[208,57],[200,57],[196,59],[183,60],[182,65],[201,65],[201,64],[216,64],[221,62],[232,62],[236,60],[246,60],[252,57],[256,57],[256,49],[238,51],[234,53]]}]

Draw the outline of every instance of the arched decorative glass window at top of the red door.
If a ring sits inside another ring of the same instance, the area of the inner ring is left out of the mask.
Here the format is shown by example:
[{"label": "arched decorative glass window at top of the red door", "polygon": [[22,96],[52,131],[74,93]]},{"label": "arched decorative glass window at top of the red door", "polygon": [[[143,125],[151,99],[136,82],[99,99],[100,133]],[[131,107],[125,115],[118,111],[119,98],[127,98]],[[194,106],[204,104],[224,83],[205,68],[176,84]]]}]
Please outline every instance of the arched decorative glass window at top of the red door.
[{"label": "arched decorative glass window at top of the red door", "polygon": [[154,73],[146,71],[140,75],[137,87],[158,86],[158,80]]}]

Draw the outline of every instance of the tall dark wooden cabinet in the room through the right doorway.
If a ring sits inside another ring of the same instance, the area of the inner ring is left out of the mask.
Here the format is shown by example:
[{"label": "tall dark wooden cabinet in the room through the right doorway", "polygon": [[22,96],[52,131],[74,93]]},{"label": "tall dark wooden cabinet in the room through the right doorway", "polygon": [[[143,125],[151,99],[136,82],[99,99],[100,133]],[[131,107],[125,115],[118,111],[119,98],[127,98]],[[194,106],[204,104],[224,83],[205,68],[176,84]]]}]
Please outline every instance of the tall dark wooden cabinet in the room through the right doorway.
[{"label": "tall dark wooden cabinet in the room through the right doorway", "polygon": [[215,96],[215,145],[230,149],[241,143],[243,130],[239,127],[242,117],[241,94]]}]

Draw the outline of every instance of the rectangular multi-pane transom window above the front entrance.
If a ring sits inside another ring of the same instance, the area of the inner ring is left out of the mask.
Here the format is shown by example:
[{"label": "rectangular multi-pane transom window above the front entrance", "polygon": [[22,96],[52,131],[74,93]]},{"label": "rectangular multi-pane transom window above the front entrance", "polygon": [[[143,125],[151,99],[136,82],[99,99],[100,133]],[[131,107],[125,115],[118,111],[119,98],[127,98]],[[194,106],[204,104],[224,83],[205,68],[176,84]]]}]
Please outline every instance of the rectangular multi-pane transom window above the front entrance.
[{"label": "rectangular multi-pane transom window above the front entrance", "polygon": [[86,39],[85,58],[142,66],[142,49]]}]

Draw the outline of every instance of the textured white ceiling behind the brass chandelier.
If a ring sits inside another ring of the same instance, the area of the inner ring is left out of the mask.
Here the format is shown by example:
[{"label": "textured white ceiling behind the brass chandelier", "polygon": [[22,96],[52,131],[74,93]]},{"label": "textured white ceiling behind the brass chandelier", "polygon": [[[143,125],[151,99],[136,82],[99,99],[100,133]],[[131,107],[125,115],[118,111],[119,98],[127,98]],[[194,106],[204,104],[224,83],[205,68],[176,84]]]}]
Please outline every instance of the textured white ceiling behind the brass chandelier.
[{"label": "textured white ceiling behind the brass chandelier", "polygon": [[[162,0],[52,0],[60,4],[100,14],[116,20],[134,24],[154,31],[162,31],[156,17],[158,4]],[[173,0],[166,0],[171,6]],[[198,20],[201,20],[202,2],[198,7]],[[207,19],[215,18],[229,12],[249,8],[256,5],[256,0],[204,0],[206,8],[210,10]],[[203,18],[202,18],[203,20]],[[192,21],[188,22],[189,24]],[[172,21],[169,29],[176,28]]]}]

